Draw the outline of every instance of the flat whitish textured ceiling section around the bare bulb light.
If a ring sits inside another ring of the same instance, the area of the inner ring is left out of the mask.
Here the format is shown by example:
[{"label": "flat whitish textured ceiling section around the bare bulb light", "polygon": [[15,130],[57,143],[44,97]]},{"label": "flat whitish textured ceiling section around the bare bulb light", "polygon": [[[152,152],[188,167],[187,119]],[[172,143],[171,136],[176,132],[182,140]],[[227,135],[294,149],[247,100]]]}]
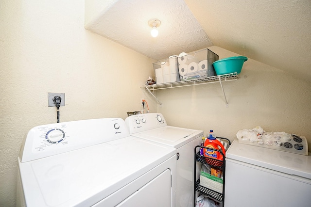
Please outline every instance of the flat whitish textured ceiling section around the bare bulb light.
[{"label": "flat whitish textured ceiling section around the bare bulb light", "polygon": [[[97,12],[101,6],[87,5],[94,2],[86,1],[87,30],[155,60],[213,45],[184,0],[110,0]],[[161,21],[156,38],[148,25],[153,18]]]}]

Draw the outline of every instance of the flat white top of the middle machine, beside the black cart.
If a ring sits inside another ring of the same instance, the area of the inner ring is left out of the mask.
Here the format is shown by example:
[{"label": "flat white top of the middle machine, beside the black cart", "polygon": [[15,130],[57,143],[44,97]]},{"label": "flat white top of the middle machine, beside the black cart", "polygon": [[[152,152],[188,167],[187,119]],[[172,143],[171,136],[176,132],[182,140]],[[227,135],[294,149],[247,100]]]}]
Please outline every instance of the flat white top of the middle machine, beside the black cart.
[{"label": "flat white top of the middle machine, beside the black cart", "polygon": [[184,144],[189,143],[200,136],[203,136],[203,131],[189,128],[165,126],[131,135],[156,143],[173,146],[177,149]]}]

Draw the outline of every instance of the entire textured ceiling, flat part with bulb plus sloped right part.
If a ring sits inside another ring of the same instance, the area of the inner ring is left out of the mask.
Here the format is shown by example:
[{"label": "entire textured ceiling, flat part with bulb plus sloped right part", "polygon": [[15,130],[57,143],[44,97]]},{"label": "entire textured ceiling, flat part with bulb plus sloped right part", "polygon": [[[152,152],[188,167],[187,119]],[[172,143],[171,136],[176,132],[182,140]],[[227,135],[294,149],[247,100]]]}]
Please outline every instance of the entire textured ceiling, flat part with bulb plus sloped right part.
[{"label": "entire textured ceiling, flat part with bulb plus sloped right part", "polygon": [[311,0],[87,0],[85,27],[155,60],[215,45],[311,81]]}]

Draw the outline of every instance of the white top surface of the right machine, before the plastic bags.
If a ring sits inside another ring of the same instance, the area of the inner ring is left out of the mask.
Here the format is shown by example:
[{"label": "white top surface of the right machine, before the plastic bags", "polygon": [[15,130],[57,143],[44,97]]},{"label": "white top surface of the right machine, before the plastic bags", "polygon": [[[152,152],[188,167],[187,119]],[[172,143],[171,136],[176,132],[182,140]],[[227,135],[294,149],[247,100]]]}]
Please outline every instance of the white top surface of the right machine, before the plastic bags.
[{"label": "white top surface of the right machine, before the plastic bags", "polygon": [[234,140],[225,153],[227,160],[235,159],[289,175],[311,179],[311,156],[239,143]]}]

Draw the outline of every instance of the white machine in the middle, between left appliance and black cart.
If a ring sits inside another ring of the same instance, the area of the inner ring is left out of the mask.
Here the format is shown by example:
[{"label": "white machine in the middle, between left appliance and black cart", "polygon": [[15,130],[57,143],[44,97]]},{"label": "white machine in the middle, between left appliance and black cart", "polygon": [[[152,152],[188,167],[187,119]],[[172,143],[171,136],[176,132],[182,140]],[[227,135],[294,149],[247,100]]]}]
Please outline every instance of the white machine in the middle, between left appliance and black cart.
[{"label": "white machine in the middle, between left appliance and black cart", "polygon": [[193,207],[194,147],[201,144],[203,131],[168,126],[161,113],[129,116],[125,124],[132,136],[176,148],[176,206]]}]

